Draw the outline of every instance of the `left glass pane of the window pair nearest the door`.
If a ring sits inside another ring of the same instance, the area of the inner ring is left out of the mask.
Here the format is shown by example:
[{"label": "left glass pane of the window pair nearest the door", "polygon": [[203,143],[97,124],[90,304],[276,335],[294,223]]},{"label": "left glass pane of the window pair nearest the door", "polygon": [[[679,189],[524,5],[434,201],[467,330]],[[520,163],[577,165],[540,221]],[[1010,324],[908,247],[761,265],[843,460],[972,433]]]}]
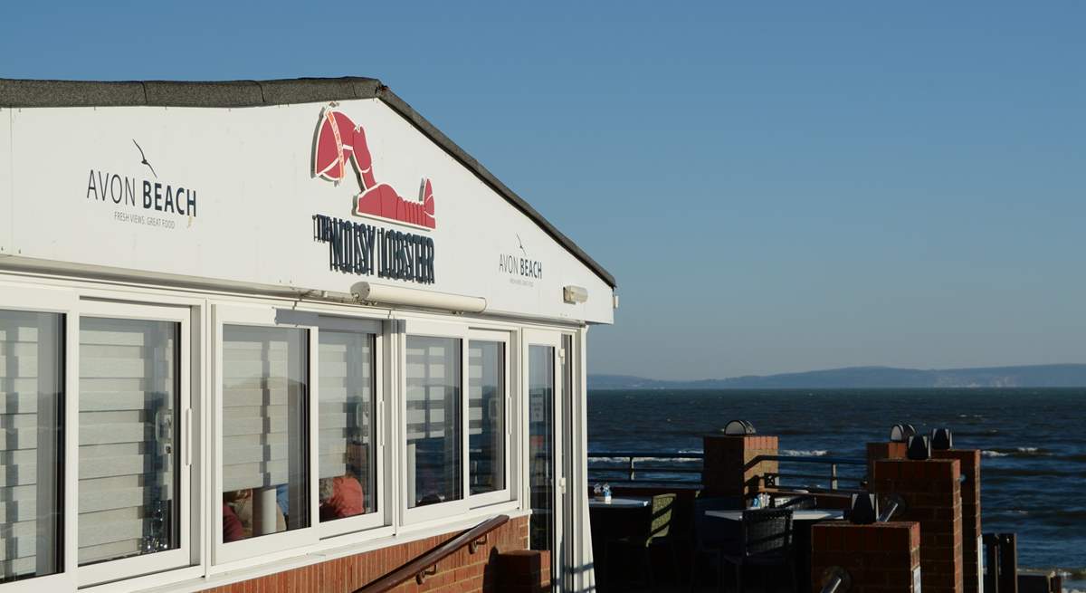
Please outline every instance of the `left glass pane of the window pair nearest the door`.
[{"label": "left glass pane of the window pair nearest the door", "polygon": [[407,507],[463,494],[460,341],[407,337]]}]

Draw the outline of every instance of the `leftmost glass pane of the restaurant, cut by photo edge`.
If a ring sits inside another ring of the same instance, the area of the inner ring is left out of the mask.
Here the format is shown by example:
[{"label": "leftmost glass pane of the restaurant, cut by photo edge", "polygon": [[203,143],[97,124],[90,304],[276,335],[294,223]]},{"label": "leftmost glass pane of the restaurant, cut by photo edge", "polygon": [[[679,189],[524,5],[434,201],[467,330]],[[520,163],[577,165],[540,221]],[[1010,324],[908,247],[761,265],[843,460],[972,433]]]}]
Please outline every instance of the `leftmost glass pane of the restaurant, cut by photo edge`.
[{"label": "leftmost glass pane of the restaurant, cut by photo edge", "polygon": [[61,570],[63,328],[0,311],[0,582]]}]

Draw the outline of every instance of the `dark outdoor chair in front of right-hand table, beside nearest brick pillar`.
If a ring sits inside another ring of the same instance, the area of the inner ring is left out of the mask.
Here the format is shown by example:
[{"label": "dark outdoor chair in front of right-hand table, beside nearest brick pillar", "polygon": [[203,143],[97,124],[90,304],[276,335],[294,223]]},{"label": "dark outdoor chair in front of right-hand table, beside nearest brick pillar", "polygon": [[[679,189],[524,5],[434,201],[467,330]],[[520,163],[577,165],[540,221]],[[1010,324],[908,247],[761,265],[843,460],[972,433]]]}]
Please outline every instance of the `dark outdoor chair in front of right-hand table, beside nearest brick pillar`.
[{"label": "dark outdoor chair in front of right-hand table, beside nearest brick pillar", "polygon": [[[792,548],[791,508],[752,508],[743,512],[741,546],[722,555],[735,565],[735,589],[743,593],[743,571],[748,566],[786,567],[792,591],[796,591],[796,566]],[[763,577],[763,582],[768,577]],[[769,591],[766,582],[765,591]]]}]

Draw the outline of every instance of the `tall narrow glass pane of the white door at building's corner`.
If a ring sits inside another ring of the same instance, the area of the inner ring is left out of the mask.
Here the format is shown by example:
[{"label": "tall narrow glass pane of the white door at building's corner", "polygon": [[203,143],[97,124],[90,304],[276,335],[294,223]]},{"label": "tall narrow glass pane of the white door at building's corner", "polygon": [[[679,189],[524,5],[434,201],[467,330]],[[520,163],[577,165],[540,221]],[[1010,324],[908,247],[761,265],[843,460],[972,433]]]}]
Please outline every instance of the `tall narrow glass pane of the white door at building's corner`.
[{"label": "tall narrow glass pane of the white door at building's corner", "polygon": [[554,348],[528,349],[528,433],[532,517],[531,550],[554,541]]}]

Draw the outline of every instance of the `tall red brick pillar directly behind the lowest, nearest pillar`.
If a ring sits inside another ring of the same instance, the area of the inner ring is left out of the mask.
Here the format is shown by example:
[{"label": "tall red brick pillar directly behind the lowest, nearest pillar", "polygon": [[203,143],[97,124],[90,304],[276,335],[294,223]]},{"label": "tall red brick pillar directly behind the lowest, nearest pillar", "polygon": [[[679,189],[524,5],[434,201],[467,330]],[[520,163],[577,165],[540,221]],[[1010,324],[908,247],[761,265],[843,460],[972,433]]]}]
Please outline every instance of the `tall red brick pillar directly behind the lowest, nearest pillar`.
[{"label": "tall red brick pillar directly behind the lowest, nearest pillar", "polygon": [[964,593],[961,532],[961,463],[957,459],[880,459],[871,489],[899,494],[900,520],[920,522],[923,593]]}]

